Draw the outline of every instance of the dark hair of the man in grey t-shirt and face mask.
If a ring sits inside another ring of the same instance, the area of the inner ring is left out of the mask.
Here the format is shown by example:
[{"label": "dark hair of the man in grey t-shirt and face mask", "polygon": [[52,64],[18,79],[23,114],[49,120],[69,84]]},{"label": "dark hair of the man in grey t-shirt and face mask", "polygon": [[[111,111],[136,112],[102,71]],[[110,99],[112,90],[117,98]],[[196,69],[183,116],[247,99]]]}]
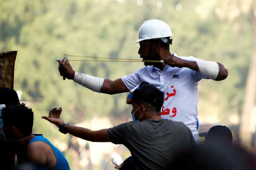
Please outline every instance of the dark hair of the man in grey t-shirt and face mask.
[{"label": "dark hair of the man in grey t-shirt and face mask", "polygon": [[141,90],[133,93],[133,101],[147,105],[148,109],[161,111],[163,105],[164,93],[154,85],[145,84]]}]

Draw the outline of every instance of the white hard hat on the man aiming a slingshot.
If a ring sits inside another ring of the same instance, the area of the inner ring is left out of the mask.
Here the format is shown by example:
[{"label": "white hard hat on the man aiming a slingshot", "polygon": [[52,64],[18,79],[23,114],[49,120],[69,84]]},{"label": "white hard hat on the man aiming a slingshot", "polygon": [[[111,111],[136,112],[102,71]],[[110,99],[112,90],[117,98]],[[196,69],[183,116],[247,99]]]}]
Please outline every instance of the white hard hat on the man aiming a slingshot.
[{"label": "white hard hat on the man aiming a slingshot", "polygon": [[150,19],[143,22],[139,30],[138,43],[143,40],[161,39],[164,42],[168,40],[165,37],[173,36],[171,28],[165,22],[158,19]]}]

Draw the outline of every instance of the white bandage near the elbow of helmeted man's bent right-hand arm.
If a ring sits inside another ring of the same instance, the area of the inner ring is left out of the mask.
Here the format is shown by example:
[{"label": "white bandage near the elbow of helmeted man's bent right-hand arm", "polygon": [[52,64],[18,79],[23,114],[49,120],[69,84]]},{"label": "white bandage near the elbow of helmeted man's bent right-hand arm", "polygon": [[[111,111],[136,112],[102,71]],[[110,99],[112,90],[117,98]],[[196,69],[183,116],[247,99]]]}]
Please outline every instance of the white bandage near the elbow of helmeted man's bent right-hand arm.
[{"label": "white bandage near the elbow of helmeted man's bent right-hand arm", "polygon": [[219,64],[213,61],[196,61],[198,65],[198,72],[205,75],[207,78],[215,80],[219,74]]}]

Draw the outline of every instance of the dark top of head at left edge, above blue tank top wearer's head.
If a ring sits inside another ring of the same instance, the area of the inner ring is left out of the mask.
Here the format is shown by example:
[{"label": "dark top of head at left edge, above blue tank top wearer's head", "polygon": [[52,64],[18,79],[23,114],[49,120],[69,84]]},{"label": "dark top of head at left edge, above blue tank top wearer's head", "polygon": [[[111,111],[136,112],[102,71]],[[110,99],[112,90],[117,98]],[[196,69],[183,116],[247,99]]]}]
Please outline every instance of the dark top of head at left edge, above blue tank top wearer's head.
[{"label": "dark top of head at left edge, above blue tank top wearer's head", "polygon": [[0,87],[0,104],[10,105],[19,104],[20,100],[18,98],[17,92],[13,89]]}]

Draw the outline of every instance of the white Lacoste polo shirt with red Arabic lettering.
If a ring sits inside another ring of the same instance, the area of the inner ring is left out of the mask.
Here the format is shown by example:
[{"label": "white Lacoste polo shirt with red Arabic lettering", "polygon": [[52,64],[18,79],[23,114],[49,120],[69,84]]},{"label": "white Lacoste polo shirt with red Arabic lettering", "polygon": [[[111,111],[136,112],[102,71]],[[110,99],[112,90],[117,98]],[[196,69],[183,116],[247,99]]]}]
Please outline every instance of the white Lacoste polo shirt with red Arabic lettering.
[{"label": "white Lacoste polo shirt with red Arabic lettering", "polygon": [[[180,58],[189,61],[201,60],[193,56]],[[141,81],[145,81],[164,92],[165,99],[161,108],[161,117],[185,123],[190,128],[195,142],[198,143],[196,130],[197,85],[202,78],[206,79],[204,75],[189,68],[172,68],[167,65],[162,71],[154,66],[145,66],[122,77],[122,81],[128,90],[136,87]]]}]

